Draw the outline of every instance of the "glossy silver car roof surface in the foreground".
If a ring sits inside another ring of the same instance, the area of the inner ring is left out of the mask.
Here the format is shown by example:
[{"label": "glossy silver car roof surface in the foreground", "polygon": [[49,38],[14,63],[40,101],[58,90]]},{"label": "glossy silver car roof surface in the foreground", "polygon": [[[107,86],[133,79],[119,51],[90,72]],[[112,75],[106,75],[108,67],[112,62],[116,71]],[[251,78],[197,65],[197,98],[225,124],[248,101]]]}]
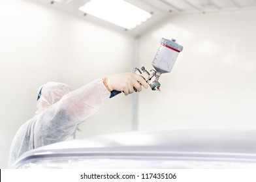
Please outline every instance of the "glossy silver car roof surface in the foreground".
[{"label": "glossy silver car roof surface in the foreground", "polygon": [[24,153],[12,168],[255,168],[250,131],[136,131],[59,142]]}]

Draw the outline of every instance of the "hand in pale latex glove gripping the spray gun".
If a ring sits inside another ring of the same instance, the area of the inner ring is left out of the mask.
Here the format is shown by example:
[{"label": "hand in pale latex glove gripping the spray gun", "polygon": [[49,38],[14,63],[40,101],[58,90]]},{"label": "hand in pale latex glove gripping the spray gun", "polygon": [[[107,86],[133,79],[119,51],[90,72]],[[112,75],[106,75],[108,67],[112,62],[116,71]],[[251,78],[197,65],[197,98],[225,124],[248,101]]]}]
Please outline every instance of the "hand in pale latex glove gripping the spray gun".
[{"label": "hand in pale latex glove gripping the spray gun", "polygon": [[112,90],[121,91],[125,96],[135,91],[140,92],[142,86],[148,88],[148,84],[144,78],[136,73],[120,73],[104,78],[106,88],[111,92]]}]

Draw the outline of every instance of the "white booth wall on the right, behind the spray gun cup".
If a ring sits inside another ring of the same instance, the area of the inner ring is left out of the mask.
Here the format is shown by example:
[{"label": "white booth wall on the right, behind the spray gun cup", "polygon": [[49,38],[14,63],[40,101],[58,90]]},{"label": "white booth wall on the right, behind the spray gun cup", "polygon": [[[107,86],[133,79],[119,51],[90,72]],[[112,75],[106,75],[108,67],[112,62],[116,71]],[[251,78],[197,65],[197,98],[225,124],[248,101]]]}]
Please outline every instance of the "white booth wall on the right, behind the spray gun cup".
[{"label": "white booth wall on the right, behind the spray gun cup", "polygon": [[[140,64],[159,40],[184,45],[161,92],[140,94],[139,129],[256,129],[256,11],[171,16],[140,37]],[[148,107],[146,107],[146,105]]]}]

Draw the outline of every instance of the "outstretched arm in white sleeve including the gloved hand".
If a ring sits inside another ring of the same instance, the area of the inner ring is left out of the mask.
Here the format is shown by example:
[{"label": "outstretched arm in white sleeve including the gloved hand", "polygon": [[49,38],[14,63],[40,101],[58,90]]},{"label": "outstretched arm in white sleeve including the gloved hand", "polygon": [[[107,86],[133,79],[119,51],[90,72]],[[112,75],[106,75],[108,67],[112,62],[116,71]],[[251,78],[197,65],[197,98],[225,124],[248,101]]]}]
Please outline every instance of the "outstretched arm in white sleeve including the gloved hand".
[{"label": "outstretched arm in white sleeve including the gloved hand", "polygon": [[136,73],[121,73],[105,79],[97,79],[77,90],[69,92],[57,103],[40,114],[35,125],[35,148],[66,140],[77,125],[95,114],[109,98],[110,91],[131,94],[139,92],[146,81]]}]

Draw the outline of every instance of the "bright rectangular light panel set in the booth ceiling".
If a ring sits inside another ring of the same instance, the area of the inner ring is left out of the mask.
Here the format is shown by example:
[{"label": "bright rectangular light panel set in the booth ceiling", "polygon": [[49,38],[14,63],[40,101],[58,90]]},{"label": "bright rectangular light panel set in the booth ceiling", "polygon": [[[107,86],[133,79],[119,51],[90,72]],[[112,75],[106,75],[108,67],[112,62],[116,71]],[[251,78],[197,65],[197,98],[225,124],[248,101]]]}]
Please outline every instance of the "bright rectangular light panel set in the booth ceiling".
[{"label": "bright rectangular light panel set in the booth ceiling", "polygon": [[152,17],[149,12],[123,0],[91,0],[79,10],[125,29],[134,29]]}]

